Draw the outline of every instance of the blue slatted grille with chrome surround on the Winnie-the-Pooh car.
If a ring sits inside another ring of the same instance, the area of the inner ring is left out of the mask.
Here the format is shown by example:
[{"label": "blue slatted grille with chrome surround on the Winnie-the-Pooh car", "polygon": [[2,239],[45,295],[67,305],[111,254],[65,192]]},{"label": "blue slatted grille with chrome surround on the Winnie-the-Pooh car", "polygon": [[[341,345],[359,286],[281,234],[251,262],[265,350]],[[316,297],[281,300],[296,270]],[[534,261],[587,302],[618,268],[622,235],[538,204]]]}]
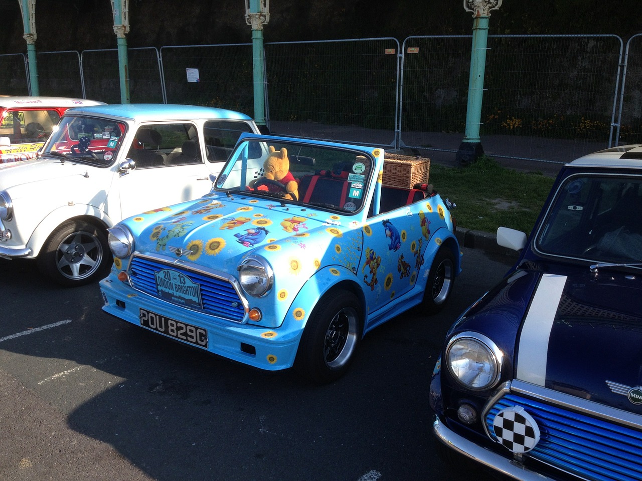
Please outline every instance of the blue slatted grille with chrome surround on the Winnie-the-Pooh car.
[{"label": "blue slatted grille with chrome surround on the Winnie-the-Pooh car", "polygon": [[203,301],[202,309],[187,307],[179,303],[174,303],[175,305],[236,323],[246,323],[248,321],[248,302],[243,296],[236,278],[213,269],[193,266],[182,259],[164,255],[149,256],[136,253],[127,268],[130,285],[135,290],[144,292],[149,296],[171,302],[159,296],[155,281],[155,273],[160,269],[168,268],[179,271],[193,282],[200,284]]}]

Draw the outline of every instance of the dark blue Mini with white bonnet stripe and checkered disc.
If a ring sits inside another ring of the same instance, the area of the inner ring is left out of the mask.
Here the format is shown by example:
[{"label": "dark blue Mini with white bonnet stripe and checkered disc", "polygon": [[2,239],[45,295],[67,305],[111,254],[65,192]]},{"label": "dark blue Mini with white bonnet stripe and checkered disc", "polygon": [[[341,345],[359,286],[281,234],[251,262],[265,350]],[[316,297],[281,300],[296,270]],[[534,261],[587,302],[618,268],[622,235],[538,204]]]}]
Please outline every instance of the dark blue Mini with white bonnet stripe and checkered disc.
[{"label": "dark blue Mini with white bonnet stripe and checkered disc", "polygon": [[519,480],[642,479],[642,146],[565,165],[498,243],[519,260],[449,330],[433,431]]}]

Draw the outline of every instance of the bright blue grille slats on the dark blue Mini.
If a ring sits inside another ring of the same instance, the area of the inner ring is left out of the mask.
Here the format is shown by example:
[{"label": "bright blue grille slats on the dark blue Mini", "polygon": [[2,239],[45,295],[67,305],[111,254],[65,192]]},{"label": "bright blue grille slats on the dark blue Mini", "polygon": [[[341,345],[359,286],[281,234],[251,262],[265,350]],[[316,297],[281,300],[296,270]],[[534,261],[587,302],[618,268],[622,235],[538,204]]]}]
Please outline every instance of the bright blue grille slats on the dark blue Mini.
[{"label": "bright blue grille slats on the dark blue Mini", "polygon": [[516,394],[507,394],[490,409],[486,424],[499,410],[521,406],[535,418],[541,440],[530,456],[595,481],[642,479],[642,432],[562,409]]}]

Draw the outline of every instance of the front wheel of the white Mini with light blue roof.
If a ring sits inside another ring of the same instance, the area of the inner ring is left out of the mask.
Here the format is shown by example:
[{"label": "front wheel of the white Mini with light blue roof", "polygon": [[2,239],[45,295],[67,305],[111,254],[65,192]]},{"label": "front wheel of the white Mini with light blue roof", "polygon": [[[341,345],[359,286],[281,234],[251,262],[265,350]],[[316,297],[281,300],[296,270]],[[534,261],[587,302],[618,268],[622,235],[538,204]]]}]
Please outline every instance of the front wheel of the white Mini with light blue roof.
[{"label": "front wheel of the white Mini with light blue roof", "polygon": [[111,254],[98,226],[74,220],[51,233],[38,256],[40,272],[65,287],[94,282],[106,274]]}]

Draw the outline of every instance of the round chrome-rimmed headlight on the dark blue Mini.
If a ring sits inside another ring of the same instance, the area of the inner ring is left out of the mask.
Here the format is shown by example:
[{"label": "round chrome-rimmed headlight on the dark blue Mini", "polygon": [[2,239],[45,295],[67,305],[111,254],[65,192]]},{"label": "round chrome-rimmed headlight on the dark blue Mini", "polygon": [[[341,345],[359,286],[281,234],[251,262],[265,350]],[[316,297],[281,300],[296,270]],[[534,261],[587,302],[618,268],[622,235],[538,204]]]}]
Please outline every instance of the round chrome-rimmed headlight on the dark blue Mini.
[{"label": "round chrome-rimmed headlight on the dark blue Mini", "polygon": [[496,344],[477,332],[459,333],[446,347],[449,372],[468,389],[489,389],[497,384],[502,357]]}]

